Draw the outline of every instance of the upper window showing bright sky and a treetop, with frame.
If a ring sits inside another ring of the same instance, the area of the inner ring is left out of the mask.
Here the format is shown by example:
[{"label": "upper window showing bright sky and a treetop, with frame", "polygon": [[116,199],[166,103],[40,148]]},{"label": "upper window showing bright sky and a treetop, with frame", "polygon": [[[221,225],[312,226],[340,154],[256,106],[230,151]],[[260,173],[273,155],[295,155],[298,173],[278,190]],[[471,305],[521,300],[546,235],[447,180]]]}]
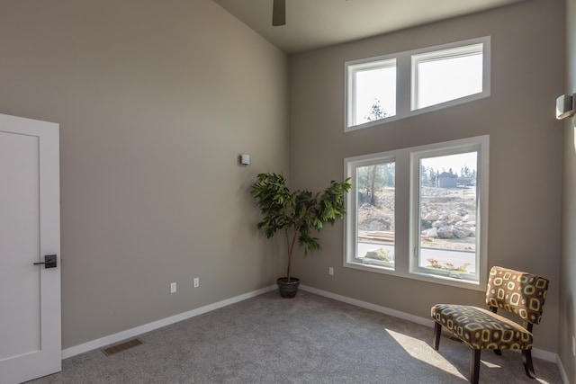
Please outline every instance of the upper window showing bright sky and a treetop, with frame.
[{"label": "upper window showing bright sky and a treetop, with frame", "polygon": [[490,37],[345,63],[345,130],[490,96]]}]

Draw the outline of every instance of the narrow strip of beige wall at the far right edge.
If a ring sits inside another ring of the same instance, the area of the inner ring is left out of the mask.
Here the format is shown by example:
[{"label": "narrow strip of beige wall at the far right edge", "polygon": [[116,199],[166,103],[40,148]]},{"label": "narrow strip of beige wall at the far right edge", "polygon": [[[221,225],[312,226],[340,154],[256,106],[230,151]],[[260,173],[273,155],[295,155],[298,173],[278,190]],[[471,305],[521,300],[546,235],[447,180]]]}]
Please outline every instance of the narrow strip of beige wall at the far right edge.
[{"label": "narrow strip of beige wall at the far right edge", "polygon": [[[566,81],[559,93],[576,93],[576,1],[568,0],[566,17]],[[558,353],[571,383],[576,383],[576,359],[572,355],[572,336],[576,335],[576,125],[564,121],[563,158],[563,248],[561,259],[560,317]]]}]

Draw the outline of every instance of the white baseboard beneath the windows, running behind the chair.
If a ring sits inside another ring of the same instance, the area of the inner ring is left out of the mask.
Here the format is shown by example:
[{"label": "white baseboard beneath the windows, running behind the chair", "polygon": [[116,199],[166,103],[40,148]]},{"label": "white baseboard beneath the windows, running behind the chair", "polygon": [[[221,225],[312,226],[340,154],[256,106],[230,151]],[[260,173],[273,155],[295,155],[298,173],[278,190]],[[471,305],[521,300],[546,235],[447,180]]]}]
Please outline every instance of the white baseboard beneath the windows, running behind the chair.
[{"label": "white baseboard beneath the windows, running behind the chair", "polygon": [[[338,295],[336,293],[329,292],[328,290],[319,290],[319,289],[308,287],[308,286],[302,285],[302,284],[300,285],[300,289],[309,291],[311,293],[315,293],[315,294],[320,295],[320,296],[324,296],[324,297],[329,298],[329,299],[335,299],[338,301],[345,302],[347,304],[352,304],[356,307],[371,309],[371,310],[374,310],[374,312],[383,313],[384,315],[389,315],[389,316],[401,318],[403,320],[408,320],[408,321],[411,321],[412,323],[419,324],[420,326],[429,326],[429,327],[434,326],[434,320],[432,320],[431,318],[410,315],[410,313],[401,312],[401,311],[396,310],[396,309],[378,306],[378,305],[375,305],[375,304],[372,304],[372,303],[369,303],[366,301],[358,300],[358,299],[348,298],[347,296]],[[548,352],[548,351],[541,350],[538,348],[532,349],[532,356],[534,356],[538,359],[545,360],[546,362],[554,362],[556,364],[559,362],[559,356],[557,353]],[[567,382],[567,381],[565,381],[565,382]]]}]

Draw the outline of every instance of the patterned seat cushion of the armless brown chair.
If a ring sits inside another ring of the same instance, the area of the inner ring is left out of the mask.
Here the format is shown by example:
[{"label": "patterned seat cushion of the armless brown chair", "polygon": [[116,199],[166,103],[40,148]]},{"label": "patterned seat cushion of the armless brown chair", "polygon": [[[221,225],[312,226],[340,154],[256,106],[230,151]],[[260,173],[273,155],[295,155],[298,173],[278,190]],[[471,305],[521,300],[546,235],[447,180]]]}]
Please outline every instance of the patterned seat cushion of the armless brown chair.
[{"label": "patterned seat cushion of the armless brown chair", "polygon": [[431,315],[474,349],[532,349],[532,334],[526,328],[490,310],[437,304]]}]

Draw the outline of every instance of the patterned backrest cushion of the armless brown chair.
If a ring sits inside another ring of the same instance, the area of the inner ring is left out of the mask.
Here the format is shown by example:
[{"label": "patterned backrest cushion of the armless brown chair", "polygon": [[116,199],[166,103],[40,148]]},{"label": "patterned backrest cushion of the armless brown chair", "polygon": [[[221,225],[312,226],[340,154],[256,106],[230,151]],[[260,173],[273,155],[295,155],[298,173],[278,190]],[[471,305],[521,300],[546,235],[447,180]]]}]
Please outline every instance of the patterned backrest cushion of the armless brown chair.
[{"label": "patterned backrest cushion of the armless brown chair", "polygon": [[540,324],[548,280],[527,272],[494,266],[486,290],[486,304],[505,309],[532,324]]}]

